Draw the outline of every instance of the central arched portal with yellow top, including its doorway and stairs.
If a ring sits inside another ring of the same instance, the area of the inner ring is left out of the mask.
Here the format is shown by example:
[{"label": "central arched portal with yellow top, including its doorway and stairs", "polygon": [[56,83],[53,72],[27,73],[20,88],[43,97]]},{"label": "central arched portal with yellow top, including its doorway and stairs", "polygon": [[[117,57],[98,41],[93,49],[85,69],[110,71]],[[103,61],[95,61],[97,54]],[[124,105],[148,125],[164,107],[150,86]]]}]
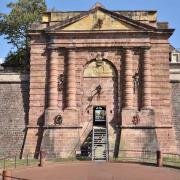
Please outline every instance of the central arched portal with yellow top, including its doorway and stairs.
[{"label": "central arched portal with yellow top, including its doorway and stairs", "polygon": [[[90,124],[89,131],[92,129],[92,159],[107,159],[107,150],[114,149],[111,144],[107,147],[108,139],[114,141],[112,132],[118,123],[118,76],[114,65],[106,59],[87,63],[82,76],[82,91],[82,122]],[[96,139],[100,139],[97,134],[106,139],[104,145],[96,144]]]}]

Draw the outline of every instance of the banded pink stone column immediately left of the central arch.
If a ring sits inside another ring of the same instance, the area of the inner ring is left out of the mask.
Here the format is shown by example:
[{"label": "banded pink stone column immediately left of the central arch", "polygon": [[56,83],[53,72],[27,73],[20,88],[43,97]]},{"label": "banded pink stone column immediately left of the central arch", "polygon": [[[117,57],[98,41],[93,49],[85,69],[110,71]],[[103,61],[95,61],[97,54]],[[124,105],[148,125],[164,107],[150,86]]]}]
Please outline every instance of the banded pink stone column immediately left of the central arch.
[{"label": "banded pink stone column immediately left of the central arch", "polygon": [[67,52],[67,108],[76,109],[76,67],[75,49],[68,49]]}]

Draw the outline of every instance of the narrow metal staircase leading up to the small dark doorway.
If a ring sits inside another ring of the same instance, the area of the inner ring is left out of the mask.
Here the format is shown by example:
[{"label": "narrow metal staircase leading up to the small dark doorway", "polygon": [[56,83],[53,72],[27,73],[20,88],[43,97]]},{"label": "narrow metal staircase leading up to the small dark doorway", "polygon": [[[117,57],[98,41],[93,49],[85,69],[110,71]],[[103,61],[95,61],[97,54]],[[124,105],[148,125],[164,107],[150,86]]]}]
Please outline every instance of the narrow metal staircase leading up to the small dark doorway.
[{"label": "narrow metal staircase leading up to the small dark doorway", "polygon": [[92,160],[107,161],[109,158],[107,128],[94,126],[92,136]]}]

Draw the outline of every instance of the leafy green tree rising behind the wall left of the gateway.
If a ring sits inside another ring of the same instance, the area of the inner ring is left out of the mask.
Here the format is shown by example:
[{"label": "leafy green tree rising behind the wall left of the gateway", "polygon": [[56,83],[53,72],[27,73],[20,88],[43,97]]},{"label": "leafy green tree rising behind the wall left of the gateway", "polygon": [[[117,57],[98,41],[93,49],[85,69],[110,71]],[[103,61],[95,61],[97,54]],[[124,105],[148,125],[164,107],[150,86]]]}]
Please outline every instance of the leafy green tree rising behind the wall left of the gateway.
[{"label": "leafy green tree rising behind the wall left of the gateway", "polygon": [[18,0],[7,4],[7,7],[11,11],[9,14],[1,15],[0,35],[5,36],[8,43],[15,47],[16,52],[10,52],[5,62],[9,62],[9,59],[11,59],[10,62],[13,59],[17,61],[20,55],[21,58],[24,57],[26,62],[22,64],[26,66],[29,62],[28,30],[33,23],[41,21],[41,13],[46,11],[46,3],[45,0]]}]

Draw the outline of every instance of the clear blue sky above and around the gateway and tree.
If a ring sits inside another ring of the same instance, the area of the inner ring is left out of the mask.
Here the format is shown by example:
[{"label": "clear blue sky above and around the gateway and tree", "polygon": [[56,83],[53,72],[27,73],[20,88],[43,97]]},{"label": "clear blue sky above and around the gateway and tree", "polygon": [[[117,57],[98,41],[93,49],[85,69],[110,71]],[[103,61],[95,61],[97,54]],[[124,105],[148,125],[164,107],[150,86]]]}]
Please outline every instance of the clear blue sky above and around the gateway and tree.
[{"label": "clear blue sky above and around the gateway and tree", "polygon": [[[0,0],[0,12],[8,13],[6,4],[16,0]],[[157,10],[159,21],[168,21],[176,31],[170,38],[170,43],[180,48],[180,0],[46,0],[48,9],[60,11],[89,10],[96,2],[102,3],[109,10]],[[4,38],[0,37],[0,61],[10,49]]]}]

